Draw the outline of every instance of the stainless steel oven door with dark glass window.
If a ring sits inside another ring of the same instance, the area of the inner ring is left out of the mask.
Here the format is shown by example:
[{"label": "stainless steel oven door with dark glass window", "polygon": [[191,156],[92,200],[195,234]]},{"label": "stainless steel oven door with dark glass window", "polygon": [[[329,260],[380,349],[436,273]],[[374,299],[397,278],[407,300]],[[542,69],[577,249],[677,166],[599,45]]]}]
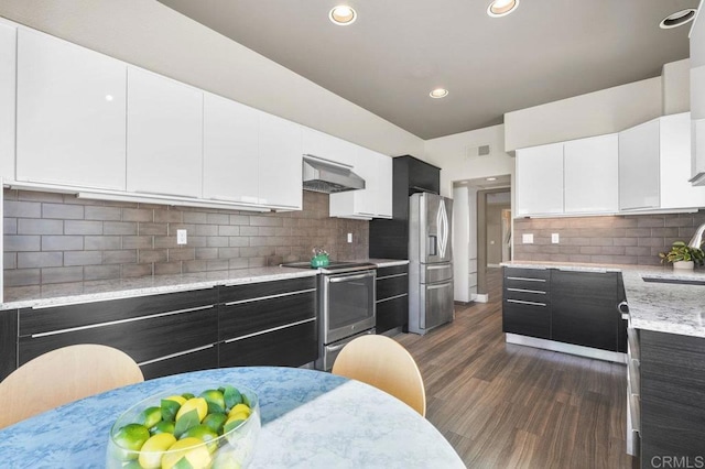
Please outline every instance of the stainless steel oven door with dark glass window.
[{"label": "stainless steel oven door with dark glass window", "polygon": [[324,275],[321,297],[323,342],[375,327],[375,270]]}]

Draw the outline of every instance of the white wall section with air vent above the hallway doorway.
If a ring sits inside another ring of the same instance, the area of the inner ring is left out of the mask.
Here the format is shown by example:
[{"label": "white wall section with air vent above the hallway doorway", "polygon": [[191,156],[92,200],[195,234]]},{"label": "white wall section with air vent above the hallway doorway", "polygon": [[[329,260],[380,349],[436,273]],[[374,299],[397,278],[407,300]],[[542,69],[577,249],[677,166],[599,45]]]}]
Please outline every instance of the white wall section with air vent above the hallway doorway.
[{"label": "white wall section with air vent above the hallway doorway", "polygon": [[[476,149],[489,145],[486,156],[474,156]],[[426,160],[441,167],[441,195],[452,197],[453,182],[476,177],[514,174],[514,160],[505,152],[505,126],[426,140]]]}]

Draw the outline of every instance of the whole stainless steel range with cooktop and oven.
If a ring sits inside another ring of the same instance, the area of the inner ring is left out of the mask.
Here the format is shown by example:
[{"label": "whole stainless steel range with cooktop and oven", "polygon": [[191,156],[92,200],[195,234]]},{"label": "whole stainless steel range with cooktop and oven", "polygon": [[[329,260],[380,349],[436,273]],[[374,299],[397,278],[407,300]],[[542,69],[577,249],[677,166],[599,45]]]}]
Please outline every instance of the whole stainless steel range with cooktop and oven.
[{"label": "whole stainless steel range with cooktop and oven", "polygon": [[[308,262],[283,268],[313,269]],[[358,336],[375,334],[377,265],[330,262],[318,268],[318,360],[316,369],[329,371],[343,347]]]}]

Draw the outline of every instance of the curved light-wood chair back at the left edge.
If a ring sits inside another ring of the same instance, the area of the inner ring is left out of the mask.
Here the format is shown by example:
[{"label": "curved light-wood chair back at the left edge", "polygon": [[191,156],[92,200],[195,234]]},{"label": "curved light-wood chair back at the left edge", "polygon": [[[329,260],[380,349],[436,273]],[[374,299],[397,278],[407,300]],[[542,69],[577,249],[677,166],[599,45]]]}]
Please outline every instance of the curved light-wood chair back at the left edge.
[{"label": "curved light-wood chair back at the left edge", "polygon": [[0,382],[0,428],[72,401],[144,381],[127,353],[82,343],[48,351]]}]

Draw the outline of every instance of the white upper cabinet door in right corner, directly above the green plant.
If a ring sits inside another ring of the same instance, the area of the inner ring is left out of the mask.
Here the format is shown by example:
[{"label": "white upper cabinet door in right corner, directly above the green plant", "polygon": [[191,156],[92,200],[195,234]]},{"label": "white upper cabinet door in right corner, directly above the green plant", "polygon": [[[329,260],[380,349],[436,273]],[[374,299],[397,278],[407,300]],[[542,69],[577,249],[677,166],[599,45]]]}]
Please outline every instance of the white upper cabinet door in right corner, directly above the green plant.
[{"label": "white upper cabinet door in right corner, directly above the green plant", "polygon": [[661,208],[705,206],[705,187],[692,186],[691,113],[664,116],[660,120]]}]

